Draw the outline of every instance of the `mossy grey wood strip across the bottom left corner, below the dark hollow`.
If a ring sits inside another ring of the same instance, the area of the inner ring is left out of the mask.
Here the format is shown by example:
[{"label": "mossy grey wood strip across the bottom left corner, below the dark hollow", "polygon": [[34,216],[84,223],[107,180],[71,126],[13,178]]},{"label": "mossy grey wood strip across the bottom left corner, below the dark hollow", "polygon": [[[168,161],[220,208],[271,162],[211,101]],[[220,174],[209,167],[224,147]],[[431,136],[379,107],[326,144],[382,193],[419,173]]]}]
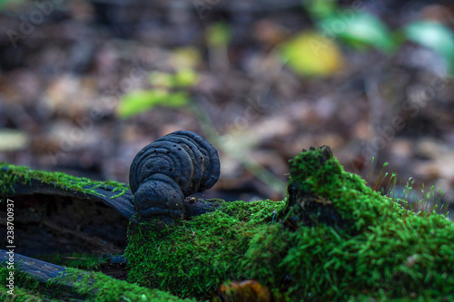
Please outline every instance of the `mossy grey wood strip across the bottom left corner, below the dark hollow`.
[{"label": "mossy grey wood strip across the bottom left corner, below the dark hollow", "polygon": [[102,273],[64,268],[19,254],[13,257],[15,268],[10,266],[10,254],[0,249],[0,278],[11,285],[1,287],[2,301],[193,301]]}]

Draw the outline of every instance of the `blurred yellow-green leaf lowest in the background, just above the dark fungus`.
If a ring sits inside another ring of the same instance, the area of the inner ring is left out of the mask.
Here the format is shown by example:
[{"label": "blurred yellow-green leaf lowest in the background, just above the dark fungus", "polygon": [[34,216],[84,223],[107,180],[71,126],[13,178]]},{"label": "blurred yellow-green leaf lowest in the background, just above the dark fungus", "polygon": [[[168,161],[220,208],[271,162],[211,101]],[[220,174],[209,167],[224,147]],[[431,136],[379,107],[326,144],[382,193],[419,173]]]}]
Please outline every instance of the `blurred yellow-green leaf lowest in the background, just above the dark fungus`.
[{"label": "blurred yellow-green leaf lowest in the background, just above the dark fungus", "polygon": [[146,112],[155,106],[181,107],[189,100],[184,92],[169,93],[163,89],[139,90],[126,93],[118,104],[116,113],[125,119],[141,112]]}]

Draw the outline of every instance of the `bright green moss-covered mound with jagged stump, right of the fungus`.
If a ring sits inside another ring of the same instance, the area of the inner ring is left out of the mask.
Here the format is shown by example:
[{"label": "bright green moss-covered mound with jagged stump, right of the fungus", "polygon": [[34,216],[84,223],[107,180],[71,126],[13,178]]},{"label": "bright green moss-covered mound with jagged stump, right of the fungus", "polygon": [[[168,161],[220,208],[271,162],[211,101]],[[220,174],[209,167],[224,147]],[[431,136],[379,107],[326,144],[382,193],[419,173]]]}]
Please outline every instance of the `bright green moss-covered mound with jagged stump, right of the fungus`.
[{"label": "bright green moss-covered mound with jagged stump, right of the fungus", "polygon": [[291,301],[454,300],[445,216],[417,216],[371,190],[329,148],[291,162],[289,193],[288,202],[226,203],[161,231],[130,224],[129,281],[197,298],[252,278]]}]

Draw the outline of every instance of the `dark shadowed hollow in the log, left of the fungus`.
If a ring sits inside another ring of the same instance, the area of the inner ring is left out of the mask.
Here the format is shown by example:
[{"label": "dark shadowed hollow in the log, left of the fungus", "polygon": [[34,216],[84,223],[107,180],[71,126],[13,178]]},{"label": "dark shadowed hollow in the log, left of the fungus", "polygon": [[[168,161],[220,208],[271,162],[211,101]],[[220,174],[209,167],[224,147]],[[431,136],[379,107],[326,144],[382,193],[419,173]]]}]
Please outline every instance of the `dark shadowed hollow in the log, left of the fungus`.
[{"label": "dark shadowed hollow in the log, left of the fungus", "polygon": [[[14,200],[16,252],[49,254],[122,253],[128,219],[99,201],[60,195],[20,195]],[[0,203],[0,236],[6,238],[6,202]]]}]

